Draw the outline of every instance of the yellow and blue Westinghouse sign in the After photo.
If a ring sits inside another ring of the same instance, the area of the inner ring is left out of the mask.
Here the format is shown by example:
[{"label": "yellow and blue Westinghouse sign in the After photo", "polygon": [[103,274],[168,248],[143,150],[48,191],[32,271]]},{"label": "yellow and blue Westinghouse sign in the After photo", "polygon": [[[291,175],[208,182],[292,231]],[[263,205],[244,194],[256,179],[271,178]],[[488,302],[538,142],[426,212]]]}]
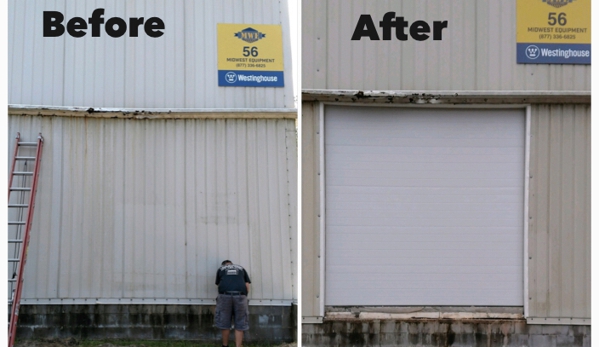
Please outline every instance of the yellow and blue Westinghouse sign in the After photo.
[{"label": "yellow and blue Westinghouse sign in the After photo", "polygon": [[518,63],[590,64],[591,0],[517,0]]}]

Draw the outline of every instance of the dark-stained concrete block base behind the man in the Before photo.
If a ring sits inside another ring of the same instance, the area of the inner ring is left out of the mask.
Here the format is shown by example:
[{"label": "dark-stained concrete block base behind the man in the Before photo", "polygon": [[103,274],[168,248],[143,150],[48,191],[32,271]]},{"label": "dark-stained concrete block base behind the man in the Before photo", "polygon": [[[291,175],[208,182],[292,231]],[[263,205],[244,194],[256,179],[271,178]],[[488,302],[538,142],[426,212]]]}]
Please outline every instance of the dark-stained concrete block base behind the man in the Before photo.
[{"label": "dark-stained concrete block base behind the man in the Before photo", "polygon": [[[244,340],[295,341],[296,312],[296,306],[250,306]],[[17,338],[220,341],[213,320],[214,306],[22,305]]]}]

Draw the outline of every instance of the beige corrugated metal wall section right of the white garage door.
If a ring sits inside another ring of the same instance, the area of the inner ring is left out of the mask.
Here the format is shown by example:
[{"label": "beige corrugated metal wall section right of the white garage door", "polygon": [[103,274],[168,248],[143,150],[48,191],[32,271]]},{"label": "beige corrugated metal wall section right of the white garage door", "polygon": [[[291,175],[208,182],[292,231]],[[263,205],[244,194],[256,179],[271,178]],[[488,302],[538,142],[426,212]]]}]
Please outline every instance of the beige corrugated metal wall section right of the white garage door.
[{"label": "beige corrugated metal wall section right of the white garage door", "polygon": [[590,319],[590,105],[533,106],[530,158],[529,316]]}]

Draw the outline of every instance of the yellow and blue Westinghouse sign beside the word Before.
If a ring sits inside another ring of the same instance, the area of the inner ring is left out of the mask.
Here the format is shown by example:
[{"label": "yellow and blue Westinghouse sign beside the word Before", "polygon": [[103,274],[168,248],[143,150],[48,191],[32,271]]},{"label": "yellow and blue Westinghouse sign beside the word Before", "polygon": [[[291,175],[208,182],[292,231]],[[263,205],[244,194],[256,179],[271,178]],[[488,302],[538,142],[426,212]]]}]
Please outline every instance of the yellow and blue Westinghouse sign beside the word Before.
[{"label": "yellow and blue Westinghouse sign beside the word Before", "polygon": [[283,87],[280,25],[217,24],[218,85]]}]

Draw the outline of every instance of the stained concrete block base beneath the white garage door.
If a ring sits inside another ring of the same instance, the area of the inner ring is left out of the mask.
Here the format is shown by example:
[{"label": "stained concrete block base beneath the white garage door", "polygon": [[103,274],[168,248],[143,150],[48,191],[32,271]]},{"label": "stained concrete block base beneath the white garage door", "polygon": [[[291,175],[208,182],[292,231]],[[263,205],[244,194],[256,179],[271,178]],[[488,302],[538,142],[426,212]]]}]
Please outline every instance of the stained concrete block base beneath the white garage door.
[{"label": "stained concrete block base beneath the white garage door", "polygon": [[591,346],[588,325],[529,325],[523,319],[326,319],[302,324],[303,346]]}]

